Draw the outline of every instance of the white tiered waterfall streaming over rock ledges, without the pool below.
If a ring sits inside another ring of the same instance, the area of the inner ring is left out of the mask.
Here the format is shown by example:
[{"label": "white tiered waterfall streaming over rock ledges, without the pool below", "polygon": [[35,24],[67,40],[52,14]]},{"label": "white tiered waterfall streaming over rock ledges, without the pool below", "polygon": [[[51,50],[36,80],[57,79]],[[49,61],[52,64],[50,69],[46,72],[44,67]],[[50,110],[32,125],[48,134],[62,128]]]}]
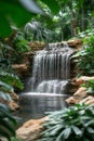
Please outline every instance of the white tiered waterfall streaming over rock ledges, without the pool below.
[{"label": "white tiered waterfall streaming over rock ledges, without the pool below", "polygon": [[38,51],[33,59],[28,91],[65,93],[70,78],[71,53],[72,50],[66,42],[51,43],[48,50]]}]

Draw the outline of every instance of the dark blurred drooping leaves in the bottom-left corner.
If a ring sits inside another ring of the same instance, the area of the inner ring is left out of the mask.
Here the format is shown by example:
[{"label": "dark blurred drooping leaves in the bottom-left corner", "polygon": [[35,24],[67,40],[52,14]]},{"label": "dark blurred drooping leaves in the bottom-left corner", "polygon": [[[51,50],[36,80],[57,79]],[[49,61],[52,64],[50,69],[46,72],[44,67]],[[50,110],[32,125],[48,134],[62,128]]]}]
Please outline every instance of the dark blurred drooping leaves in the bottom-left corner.
[{"label": "dark blurred drooping leaves in the bottom-left corner", "polygon": [[0,137],[4,137],[10,141],[11,137],[15,137],[14,126],[16,124],[9,107],[0,104]]}]

